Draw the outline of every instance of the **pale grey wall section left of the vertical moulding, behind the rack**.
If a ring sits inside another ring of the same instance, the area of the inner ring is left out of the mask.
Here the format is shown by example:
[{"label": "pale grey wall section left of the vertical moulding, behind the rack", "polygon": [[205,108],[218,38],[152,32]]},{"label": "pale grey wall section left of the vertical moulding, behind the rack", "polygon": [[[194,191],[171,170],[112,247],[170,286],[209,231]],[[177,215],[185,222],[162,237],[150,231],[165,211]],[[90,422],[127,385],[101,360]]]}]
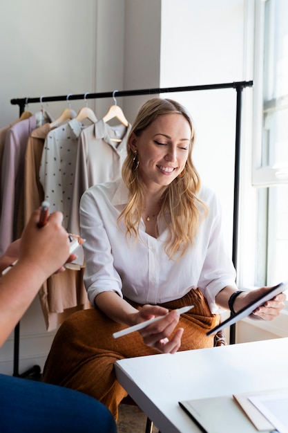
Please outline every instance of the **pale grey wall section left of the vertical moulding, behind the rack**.
[{"label": "pale grey wall section left of the vertical moulding, behind the rack", "polygon": [[[94,91],[96,6],[95,0],[85,7],[77,0],[0,1],[0,127],[19,114],[12,98]],[[63,106],[49,104],[48,111],[57,117]]]}]

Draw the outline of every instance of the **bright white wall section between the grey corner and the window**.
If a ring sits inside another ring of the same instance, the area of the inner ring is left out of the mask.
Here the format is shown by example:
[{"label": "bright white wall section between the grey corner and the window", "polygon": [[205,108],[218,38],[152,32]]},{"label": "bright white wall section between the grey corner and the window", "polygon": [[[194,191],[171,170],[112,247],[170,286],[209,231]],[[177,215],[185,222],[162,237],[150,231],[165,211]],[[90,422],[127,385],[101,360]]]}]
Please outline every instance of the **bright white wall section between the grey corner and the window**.
[{"label": "bright white wall section between the grey corner and the window", "polygon": [[[163,1],[161,86],[251,80],[243,68],[244,6],[243,0],[178,0],[177,4]],[[227,245],[231,248],[236,91],[205,90],[166,96],[182,102],[193,117],[195,165],[202,181],[220,197]]]}]

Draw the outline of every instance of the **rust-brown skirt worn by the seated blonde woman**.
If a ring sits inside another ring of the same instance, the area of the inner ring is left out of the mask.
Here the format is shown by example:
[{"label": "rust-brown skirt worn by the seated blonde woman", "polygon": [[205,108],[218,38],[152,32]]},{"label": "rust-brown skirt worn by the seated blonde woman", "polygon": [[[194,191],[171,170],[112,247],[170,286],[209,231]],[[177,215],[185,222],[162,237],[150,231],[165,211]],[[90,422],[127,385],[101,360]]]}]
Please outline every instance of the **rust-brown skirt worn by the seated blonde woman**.
[{"label": "rust-brown skirt worn by the seated blonde woman", "polygon": [[[213,337],[207,337],[206,333],[219,323],[220,317],[211,314],[198,289],[162,306],[175,309],[191,304],[195,307],[180,317],[177,326],[184,328],[180,350],[213,347]],[[44,368],[44,382],[77,389],[97,398],[117,419],[118,405],[127,393],[116,380],[114,362],[159,353],[147,347],[137,332],[113,338],[114,332],[125,327],[95,309],[70,315],[55,335]]]}]

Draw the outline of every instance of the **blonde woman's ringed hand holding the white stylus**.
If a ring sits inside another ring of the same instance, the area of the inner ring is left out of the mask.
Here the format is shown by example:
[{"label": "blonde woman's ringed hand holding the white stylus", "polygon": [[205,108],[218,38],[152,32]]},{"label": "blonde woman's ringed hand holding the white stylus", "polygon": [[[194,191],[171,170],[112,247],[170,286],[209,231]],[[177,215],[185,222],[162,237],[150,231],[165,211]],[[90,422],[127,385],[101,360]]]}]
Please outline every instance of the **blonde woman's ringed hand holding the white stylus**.
[{"label": "blonde woman's ringed hand holding the white stylus", "polygon": [[154,347],[162,353],[175,353],[181,345],[183,329],[177,329],[169,340],[175,326],[177,326],[180,315],[177,311],[169,311],[161,306],[144,305],[138,313],[138,323],[151,319],[153,316],[163,315],[162,320],[146,326],[139,332],[147,346]]}]

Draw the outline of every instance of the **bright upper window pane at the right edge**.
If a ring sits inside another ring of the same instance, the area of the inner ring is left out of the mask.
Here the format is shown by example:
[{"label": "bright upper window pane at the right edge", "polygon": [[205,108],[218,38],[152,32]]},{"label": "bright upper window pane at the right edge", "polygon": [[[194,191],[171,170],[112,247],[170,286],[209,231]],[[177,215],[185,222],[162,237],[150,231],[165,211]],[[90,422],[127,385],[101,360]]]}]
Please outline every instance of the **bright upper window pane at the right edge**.
[{"label": "bright upper window pane at the right edge", "polygon": [[287,16],[287,0],[265,2],[262,167],[288,167]]}]

